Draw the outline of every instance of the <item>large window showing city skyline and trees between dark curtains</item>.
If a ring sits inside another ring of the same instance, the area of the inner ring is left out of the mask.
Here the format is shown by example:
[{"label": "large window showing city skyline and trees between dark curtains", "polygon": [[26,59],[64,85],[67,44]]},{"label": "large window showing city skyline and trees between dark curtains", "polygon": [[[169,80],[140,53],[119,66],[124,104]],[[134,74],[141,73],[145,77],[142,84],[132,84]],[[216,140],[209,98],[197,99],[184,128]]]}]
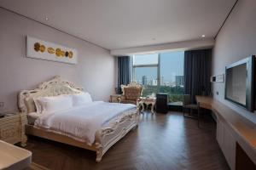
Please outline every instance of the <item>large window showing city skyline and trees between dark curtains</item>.
[{"label": "large window showing city skyline and trees between dark curtains", "polygon": [[183,59],[183,51],[133,55],[131,79],[143,85],[143,97],[165,93],[169,103],[181,105]]}]

